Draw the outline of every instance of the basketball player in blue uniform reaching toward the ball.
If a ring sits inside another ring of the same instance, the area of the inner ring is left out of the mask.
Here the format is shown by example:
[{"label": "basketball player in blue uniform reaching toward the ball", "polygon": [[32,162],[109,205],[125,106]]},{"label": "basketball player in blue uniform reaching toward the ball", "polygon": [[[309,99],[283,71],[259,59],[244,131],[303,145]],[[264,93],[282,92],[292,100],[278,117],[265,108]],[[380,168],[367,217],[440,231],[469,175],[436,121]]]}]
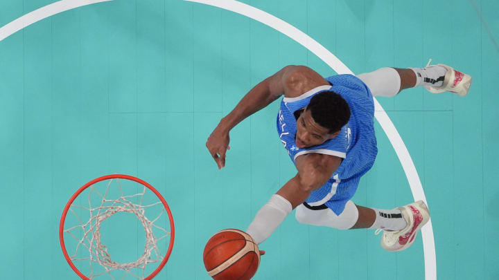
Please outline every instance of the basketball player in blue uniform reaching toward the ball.
[{"label": "basketball player in blue uniform reaching toward the ball", "polygon": [[373,228],[378,229],[376,234],[383,230],[385,250],[405,250],[430,218],[423,201],[395,209],[368,208],[351,201],[378,152],[373,96],[393,97],[415,86],[464,96],[470,85],[469,75],[443,64],[326,78],[306,66],[286,66],[252,88],[220,120],[206,145],[218,168],[224,167],[229,131],[284,95],[277,134],[297,174],[256,213],[247,233],[262,243],[296,208],[299,223],[339,230]]}]

